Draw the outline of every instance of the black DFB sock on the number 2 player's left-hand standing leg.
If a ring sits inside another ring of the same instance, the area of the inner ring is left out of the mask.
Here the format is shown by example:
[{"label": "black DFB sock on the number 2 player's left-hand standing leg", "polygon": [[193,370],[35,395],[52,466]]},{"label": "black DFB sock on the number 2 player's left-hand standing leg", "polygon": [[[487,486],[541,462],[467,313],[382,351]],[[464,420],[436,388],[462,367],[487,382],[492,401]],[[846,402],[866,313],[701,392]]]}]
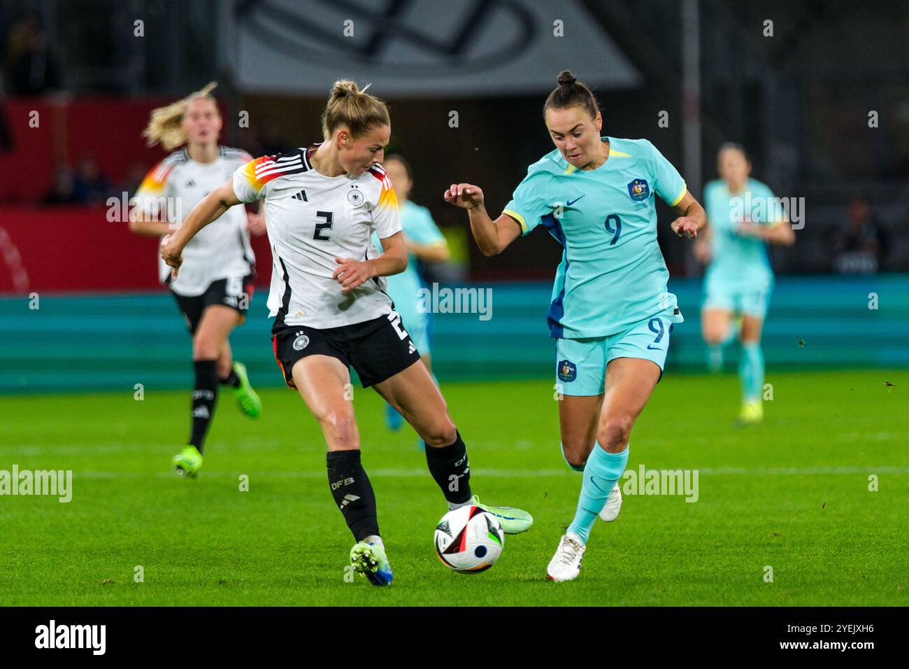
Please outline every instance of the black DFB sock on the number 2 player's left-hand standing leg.
[{"label": "black DFB sock on the number 2 player's left-hand standing leg", "polygon": [[362,542],[367,537],[379,536],[375,493],[360,463],[360,451],[328,451],[325,464],[335,504],[355,540]]}]

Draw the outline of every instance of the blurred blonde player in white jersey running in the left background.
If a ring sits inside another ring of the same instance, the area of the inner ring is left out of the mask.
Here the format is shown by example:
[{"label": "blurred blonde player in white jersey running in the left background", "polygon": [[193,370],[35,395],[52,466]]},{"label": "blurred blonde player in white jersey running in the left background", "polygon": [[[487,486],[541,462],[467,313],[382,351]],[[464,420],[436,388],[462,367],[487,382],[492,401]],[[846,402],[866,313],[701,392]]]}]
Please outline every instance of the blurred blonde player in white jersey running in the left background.
[{"label": "blurred blonde player in white jersey running in the left background", "polygon": [[[245,165],[251,157],[218,144],[221,114],[210,95],[215,84],[152,112],[145,137],[149,146],[175,150],[145,177],[135,194],[130,228],[140,235],[163,237],[189,211]],[[176,471],[195,477],[202,467],[205,434],[215,414],[218,385],[234,388],[237,404],[251,418],[262,412],[262,402],[249,383],[243,363],[233,360],[231,330],[244,322],[253,292],[253,249],[249,232],[263,234],[261,215],[247,218],[243,208],[225,211],[215,225],[193,239],[185,249],[179,279],[163,261],[161,280],[174,295],[193,336],[195,388],[189,443],[174,456]]]}]

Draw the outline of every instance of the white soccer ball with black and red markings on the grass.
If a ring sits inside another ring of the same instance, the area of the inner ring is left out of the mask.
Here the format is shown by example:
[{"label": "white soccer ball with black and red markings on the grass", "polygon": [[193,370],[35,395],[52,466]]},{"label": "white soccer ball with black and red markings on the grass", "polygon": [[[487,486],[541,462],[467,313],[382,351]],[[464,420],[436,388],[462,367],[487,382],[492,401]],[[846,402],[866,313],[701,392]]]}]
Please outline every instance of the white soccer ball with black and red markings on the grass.
[{"label": "white soccer ball with black and red markings on the grass", "polygon": [[479,573],[502,554],[505,533],[499,519],[478,506],[445,513],[435,526],[435,554],[455,572]]}]

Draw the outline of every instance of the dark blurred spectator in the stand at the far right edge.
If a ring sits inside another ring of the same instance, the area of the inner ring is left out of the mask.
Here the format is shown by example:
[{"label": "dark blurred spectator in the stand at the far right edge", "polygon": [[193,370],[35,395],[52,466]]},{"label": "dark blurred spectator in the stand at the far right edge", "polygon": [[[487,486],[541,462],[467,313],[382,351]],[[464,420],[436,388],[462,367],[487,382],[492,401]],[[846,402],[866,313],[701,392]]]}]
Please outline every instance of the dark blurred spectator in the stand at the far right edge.
[{"label": "dark blurred spectator in the stand at the far right edge", "polygon": [[846,224],[832,239],[834,270],[875,274],[887,257],[890,236],[863,195],[854,196],[846,211]]}]

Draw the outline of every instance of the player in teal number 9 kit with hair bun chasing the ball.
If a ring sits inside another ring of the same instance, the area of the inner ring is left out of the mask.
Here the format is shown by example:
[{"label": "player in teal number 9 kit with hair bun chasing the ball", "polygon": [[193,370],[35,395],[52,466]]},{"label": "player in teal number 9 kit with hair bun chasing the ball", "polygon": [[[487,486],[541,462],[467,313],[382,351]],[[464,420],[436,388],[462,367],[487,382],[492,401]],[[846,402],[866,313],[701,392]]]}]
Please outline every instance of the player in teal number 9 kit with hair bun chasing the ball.
[{"label": "player in teal number 9 kit with hair bun chasing the ball", "polygon": [[563,397],[562,451],[584,482],[546,575],[570,581],[597,514],[610,492],[617,495],[634,421],[663,373],[673,323],[682,321],[666,290],[654,193],[678,214],[672,228],[680,237],[696,237],[706,217],[650,142],[601,137],[590,90],[570,72],[558,82],[544,105],[556,149],[528,168],[502,216],[489,217],[483,190],[472,184],[452,184],[445,200],[467,209],[486,256],[540,223],[564,247],[547,320]]}]

